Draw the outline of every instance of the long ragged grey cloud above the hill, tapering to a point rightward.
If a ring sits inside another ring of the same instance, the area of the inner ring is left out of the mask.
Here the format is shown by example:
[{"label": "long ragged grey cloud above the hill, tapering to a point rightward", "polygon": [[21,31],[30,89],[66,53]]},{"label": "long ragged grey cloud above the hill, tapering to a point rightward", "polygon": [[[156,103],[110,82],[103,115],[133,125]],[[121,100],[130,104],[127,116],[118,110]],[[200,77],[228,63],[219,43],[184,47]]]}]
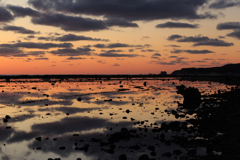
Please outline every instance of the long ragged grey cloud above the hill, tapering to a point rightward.
[{"label": "long ragged grey cloud above the hill, tapering to a point rightward", "polygon": [[193,42],[193,46],[215,46],[215,47],[229,47],[233,46],[233,43],[228,43],[217,38],[209,38],[206,36],[190,36],[185,37],[181,35],[171,35],[168,37],[168,40],[176,40],[177,42]]}]

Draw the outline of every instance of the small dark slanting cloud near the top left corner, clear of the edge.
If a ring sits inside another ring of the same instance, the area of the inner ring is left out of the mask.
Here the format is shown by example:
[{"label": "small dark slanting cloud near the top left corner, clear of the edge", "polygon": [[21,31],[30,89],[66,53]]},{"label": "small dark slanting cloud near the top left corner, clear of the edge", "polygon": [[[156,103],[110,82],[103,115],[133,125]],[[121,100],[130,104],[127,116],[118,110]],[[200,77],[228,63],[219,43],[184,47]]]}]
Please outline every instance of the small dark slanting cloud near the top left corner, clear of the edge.
[{"label": "small dark slanting cloud near the top left corner, clear of the edge", "polygon": [[7,5],[7,8],[13,12],[15,17],[25,17],[25,16],[37,17],[37,16],[40,16],[40,13],[38,11],[35,11],[28,7],[24,8],[24,7],[20,7],[20,6]]}]

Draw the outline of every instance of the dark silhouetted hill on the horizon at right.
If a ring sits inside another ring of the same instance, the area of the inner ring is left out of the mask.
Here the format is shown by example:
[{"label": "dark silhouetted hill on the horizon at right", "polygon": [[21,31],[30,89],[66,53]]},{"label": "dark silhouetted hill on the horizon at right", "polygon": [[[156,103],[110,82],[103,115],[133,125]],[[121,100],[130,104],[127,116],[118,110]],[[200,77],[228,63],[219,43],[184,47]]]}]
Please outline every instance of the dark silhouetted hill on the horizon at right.
[{"label": "dark silhouetted hill on the horizon at right", "polygon": [[240,75],[240,63],[212,68],[182,68],[172,72],[172,75]]}]

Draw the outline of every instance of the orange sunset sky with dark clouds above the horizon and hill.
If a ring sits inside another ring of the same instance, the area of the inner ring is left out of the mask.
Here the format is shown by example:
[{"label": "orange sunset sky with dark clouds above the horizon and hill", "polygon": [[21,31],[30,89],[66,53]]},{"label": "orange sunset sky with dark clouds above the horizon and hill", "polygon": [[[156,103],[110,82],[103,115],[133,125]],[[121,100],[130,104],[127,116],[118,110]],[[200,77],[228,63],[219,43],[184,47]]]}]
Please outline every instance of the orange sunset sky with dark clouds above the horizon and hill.
[{"label": "orange sunset sky with dark clouds above the horizon and hill", "polygon": [[0,0],[0,75],[240,63],[240,0]]}]

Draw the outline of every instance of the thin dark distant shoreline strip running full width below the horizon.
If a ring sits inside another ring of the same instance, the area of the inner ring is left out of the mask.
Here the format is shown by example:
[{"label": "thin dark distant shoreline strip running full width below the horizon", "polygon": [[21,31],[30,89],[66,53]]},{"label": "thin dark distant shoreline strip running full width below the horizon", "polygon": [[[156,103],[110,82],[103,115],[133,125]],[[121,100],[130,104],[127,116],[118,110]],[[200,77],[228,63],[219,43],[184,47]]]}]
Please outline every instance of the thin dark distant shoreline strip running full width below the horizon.
[{"label": "thin dark distant shoreline strip running full width below the horizon", "polygon": [[[0,75],[0,82],[92,82],[95,80],[171,80],[211,81],[240,85],[240,75]],[[35,80],[34,80],[35,79]],[[38,79],[38,80],[36,80]]]}]

